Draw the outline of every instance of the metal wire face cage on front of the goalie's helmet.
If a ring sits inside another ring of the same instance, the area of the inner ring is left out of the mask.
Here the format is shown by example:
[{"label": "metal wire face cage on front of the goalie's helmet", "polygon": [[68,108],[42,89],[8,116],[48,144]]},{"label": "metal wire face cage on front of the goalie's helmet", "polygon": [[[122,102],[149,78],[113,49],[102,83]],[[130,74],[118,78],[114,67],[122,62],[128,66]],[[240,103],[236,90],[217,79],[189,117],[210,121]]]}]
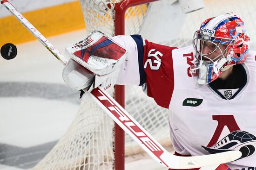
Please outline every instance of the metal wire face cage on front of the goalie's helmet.
[{"label": "metal wire face cage on front of the goalie's helmet", "polygon": [[[235,55],[233,51],[235,42],[236,40],[232,38],[215,37],[195,31],[192,44],[196,61],[190,67],[195,88],[214,81],[228,68]],[[225,45],[225,48],[221,48],[221,45]],[[208,47],[207,53],[204,53],[205,46]],[[216,54],[214,58],[209,57],[213,54]]]}]

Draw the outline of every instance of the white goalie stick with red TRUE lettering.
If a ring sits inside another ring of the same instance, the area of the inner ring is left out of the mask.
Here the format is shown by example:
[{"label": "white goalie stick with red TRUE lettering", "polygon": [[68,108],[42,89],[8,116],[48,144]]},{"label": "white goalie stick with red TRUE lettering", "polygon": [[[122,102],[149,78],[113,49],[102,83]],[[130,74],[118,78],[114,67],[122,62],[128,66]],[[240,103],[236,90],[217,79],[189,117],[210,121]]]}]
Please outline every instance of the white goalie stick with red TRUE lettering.
[{"label": "white goalie stick with red TRUE lettering", "polygon": [[[8,0],[1,0],[19,21],[36,37],[64,66],[67,59],[22,16]],[[92,99],[108,113],[108,115],[131,136],[155,161],[171,169],[201,168],[201,170],[215,170],[219,164],[228,163],[241,157],[240,151],[226,151],[222,153],[180,157],[166,151],[117,101],[103,88],[98,87],[88,93]]]}]

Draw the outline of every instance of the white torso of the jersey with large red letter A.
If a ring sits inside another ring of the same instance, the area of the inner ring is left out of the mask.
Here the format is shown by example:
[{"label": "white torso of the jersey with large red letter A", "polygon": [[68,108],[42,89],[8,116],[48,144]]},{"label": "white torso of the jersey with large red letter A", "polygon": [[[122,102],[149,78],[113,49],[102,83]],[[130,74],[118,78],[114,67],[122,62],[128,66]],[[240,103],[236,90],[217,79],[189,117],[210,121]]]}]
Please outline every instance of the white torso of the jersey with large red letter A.
[{"label": "white torso of the jersey with large red letter A", "polygon": [[184,57],[191,52],[193,48],[186,47],[172,53],[175,87],[169,121],[175,151],[196,156],[243,150],[245,158],[228,164],[229,167],[256,167],[256,51],[249,52],[242,64],[247,76],[244,86],[222,90],[209,85],[194,88],[193,78],[186,71],[192,55]]}]

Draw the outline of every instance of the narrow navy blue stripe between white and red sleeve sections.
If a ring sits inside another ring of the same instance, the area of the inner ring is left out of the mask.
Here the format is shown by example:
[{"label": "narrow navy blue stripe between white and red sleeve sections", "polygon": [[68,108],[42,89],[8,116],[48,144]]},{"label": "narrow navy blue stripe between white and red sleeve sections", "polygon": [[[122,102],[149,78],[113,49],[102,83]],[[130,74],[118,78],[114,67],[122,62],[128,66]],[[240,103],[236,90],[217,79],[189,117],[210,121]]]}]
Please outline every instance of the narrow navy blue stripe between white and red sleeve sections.
[{"label": "narrow navy blue stripe between white and red sleeve sections", "polygon": [[131,37],[135,40],[138,49],[138,60],[139,60],[139,71],[140,71],[140,86],[142,86],[146,82],[146,75],[143,69],[143,39],[141,35],[131,35]]}]

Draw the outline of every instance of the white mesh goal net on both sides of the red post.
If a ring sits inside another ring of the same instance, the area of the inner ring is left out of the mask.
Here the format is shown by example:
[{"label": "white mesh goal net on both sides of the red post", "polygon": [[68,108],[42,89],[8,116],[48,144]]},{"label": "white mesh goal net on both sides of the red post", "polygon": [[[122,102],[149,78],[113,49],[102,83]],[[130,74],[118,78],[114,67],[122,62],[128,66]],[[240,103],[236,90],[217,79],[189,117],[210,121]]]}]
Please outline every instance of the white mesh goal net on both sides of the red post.
[{"label": "white mesh goal net on both sides of the red post", "polygon": [[[120,12],[116,4],[125,5],[125,1],[128,0],[80,0],[88,34],[94,30],[108,36],[120,32],[116,30],[120,26],[116,22],[116,13]],[[256,39],[255,0],[204,0],[203,9],[187,14],[182,13],[178,1],[151,1],[154,0],[136,0],[144,4],[127,9],[121,21],[125,22],[125,28],[121,31],[126,35],[141,34],[159,44],[183,47],[191,44],[194,31],[203,20],[222,12],[234,12],[245,22],[252,42]],[[254,49],[255,44],[251,47]],[[167,109],[157,106],[141,87],[126,86],[125,109],[164,147],[171,148]],[[33,170],[112,170],[116,164],[114,152],[113,120],[84,95],[80,110],[66,134]],[[125,156],[141,152],[143,150],[126,135]]]}]

